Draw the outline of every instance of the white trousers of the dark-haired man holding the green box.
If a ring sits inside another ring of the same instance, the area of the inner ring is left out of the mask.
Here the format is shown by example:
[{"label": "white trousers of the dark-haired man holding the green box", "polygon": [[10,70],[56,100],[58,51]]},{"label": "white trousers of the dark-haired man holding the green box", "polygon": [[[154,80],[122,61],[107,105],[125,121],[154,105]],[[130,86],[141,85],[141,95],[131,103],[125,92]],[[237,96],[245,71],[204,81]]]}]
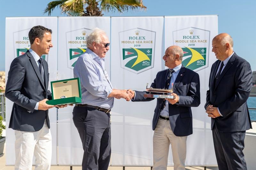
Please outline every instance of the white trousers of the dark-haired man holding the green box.
[{"label": "white trousers of the dark-haired man holding the green box", "polygon": [[52,160],[52,135],[44,121],[37,132],[14,130],[15,133],[15,170],[31,170],[33,155],[36,158],[35,170],[50,170]]}]

